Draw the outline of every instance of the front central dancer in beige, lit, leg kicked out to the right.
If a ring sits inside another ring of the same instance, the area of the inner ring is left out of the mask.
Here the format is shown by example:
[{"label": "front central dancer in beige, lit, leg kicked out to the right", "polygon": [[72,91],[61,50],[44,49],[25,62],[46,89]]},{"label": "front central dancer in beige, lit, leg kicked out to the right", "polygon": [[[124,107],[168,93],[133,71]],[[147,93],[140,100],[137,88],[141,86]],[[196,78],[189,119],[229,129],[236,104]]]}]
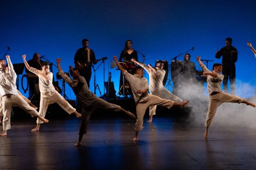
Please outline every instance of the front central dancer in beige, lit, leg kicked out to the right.
[{"label": "front central dancer in beige, lit, leg kicked out to the right", "polygon": [[172,100],[162,99],[158,96],[148,94],[148,80],[146,78],[143,78],[143,68],[138,66],[135,67],[135,74],[132,75],[128,73],[127,70],[124,70],[124,68],[117,62],[116,56],[114,56],[113,59],[116,62],[118,69],[122,71],[124,77],[130,83],[136,103],[137,121],[135,124],[135,138],[133,139],[134,141],[138,140],[139,131],[143,129],[143,117],[148,107],[158,105],[170,109],[173,105],[185,106],[188,103],[188,100],[183,103],[176,103]]}]

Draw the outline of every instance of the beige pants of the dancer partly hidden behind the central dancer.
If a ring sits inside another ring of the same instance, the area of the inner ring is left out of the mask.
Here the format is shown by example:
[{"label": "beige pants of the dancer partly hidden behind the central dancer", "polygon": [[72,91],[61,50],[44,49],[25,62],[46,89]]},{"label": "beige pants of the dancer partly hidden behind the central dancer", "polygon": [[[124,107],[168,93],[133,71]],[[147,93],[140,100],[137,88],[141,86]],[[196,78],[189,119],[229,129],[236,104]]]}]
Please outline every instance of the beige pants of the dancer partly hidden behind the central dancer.
[{"label": "beige pants of the dancer partly hidden behind the central dancer", "polygon": [[[166,88],[163,88],[159,91],[153,91],[151,92],[151,94],[158,96],[162,99],[168,99],[168,100],[173,100],[177,103],[181,103],[183,100],[180,99],[178,96],[172,94],[169,90],[167,90]],[[150,106],[149,107],[149,115],[156,115],[156,105],[155,106]]]}]

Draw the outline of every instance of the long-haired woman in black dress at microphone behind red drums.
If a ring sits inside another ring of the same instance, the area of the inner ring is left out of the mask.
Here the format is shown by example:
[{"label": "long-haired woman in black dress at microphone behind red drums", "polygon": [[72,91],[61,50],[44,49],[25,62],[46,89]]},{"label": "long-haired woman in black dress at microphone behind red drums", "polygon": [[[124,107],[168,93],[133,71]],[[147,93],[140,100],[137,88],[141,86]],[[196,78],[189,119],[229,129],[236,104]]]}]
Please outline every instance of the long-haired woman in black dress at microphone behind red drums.
[{"label": "long-haired woman in black dress at microphone behind red drums", "polygon": [[[127,64],[127,71],[132,74],[132,67],[128,64],[130,63],[127,63],[127,62],[131,62],[131,59],[134,58],[136,61],[138,61],[138,54],[137,52],[132,49],[132,41],[131,40],[127,40],[125,41],[125,44],[124,44],[124,49],[122,50],[121,54],[120,54],[120,57],[119,57],[119,62],[124,62],[125,63],[125,66],[124,69],[126,68],[126,64]],[[133,63],[132,63],[133,64]],[[135,65],[134,65],[135,67]],[[121,86],[123,85],[123,75],[122,75],[122,72],[120,74],[120,82],[119,82],[119,89],[121,88]],[[124,78],[124,85],[129,89],[130,88],[130,85],[129,83],[127,82],[127,80]],[[132,95],[132,91],[129,89],[128,90],[130,95]],[[123,92],[122,90],[120,92]],[[122,94],[124,95],[124,94]]]}]

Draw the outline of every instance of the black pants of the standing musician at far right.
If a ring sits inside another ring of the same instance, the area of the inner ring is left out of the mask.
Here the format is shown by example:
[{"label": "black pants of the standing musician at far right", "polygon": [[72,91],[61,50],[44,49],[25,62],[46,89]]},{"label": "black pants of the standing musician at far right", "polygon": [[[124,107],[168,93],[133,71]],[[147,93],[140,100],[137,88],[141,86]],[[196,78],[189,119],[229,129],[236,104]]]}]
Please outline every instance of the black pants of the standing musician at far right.
[{"label": "black pants of the standing musician at far right", "polygon": [[223,89],[228,93],[228,78],[230,81],[230,94],[235,94],[236,65],[235,63],[222,63]]}]

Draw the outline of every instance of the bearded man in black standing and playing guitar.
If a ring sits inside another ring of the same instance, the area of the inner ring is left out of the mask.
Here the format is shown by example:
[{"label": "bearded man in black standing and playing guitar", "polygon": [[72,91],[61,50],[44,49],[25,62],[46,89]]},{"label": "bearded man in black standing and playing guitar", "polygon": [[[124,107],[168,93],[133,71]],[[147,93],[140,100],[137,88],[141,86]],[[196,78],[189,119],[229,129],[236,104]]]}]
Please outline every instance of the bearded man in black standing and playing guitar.
[{"label": "bearded man in black standing and playing guitar", "polygon": [[88,39],[82,40],[83,47],[76,51],[74,63],[76,64],[79,74],[85,78],[85,81],[90,88],[90,80],[92,76],[92,63],[96,64],[97,61],[92,49],[88,48]]}]

